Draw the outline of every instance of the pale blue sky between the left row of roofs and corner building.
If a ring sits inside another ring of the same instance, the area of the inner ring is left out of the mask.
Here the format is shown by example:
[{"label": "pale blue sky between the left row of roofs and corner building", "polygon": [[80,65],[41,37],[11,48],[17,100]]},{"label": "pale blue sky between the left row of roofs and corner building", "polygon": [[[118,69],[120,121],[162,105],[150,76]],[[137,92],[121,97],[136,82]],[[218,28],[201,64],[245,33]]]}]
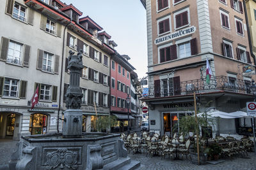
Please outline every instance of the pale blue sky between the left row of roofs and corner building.
[{"label": "pale blue sky between the left row of roofs and corner building", "polygon": [[72,3],[106,31],[121,55],[131,57],[138,78],[147,76],[147,16],[140,0],[62,0]]}]

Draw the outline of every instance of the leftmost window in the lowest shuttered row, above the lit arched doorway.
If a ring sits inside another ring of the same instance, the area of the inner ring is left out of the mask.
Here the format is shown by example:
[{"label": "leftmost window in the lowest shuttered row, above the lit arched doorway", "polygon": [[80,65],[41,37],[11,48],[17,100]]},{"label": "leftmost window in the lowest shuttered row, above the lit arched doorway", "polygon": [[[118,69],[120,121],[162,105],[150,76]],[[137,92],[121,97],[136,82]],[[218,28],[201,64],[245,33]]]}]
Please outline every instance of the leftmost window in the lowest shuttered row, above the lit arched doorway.
[{"label": "leftmost window in the lowest shuttered row, above the lit arched doorway", "polygon": [[19,80],[5,78],[4,79],[4,97],[18,97]]}]

